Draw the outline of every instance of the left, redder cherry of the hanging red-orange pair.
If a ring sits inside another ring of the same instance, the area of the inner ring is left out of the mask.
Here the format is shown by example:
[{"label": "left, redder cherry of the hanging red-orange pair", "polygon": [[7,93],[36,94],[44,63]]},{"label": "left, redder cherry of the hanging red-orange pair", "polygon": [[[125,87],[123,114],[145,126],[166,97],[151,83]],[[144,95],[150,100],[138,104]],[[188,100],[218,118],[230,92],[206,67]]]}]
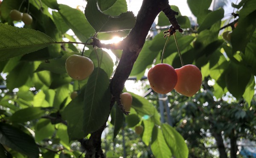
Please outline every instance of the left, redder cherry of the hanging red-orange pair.
[{"label": "left, redder cherry of the hanging red-orange pair", "polygon": [[174,89],[177,83],[177,73],[169,64],[159,63],[149,69],[148,81],[155,92],[166,94]]}]

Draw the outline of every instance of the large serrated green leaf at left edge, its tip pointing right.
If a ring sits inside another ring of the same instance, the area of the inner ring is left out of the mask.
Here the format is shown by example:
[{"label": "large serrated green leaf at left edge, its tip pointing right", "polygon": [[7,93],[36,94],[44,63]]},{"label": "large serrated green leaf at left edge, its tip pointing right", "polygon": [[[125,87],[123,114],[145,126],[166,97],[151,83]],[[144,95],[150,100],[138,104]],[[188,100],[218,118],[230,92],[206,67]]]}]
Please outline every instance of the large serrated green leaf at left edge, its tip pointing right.
[{"label": "large serrated green leaf at left edge, its tip pointing right", "polygon": [[35,52],[51,45],[52,38],[34,29],[0,23],[0,60]]}]

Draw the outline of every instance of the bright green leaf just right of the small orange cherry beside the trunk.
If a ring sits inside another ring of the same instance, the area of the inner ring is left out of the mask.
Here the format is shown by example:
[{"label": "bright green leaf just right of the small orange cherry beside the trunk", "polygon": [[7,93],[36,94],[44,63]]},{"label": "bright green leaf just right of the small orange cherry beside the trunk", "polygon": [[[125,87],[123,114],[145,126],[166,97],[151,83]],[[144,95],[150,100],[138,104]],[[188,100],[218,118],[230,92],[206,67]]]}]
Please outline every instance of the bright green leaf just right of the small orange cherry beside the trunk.
[{"label": "bright green leaf just right of the small orange cherry beside the trunk", "polygon": [[160,125],[160,115],[157,112],[157,109],[154,108],[153,104],[150,103],[147,99],[131,93],[132,95],[132,108],[140,115],[148,115],[151,118],[151,121],[154,124]]}]

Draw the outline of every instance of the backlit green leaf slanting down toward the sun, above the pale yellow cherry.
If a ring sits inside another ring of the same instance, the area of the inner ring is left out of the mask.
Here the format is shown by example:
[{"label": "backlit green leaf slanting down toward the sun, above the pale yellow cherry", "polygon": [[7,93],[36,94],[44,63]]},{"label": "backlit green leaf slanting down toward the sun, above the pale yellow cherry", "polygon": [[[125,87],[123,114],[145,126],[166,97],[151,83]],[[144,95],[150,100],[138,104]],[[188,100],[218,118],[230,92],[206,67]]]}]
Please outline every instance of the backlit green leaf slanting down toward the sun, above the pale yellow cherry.
[{"label": "backlit green leaf slanting down toward the sun, above the pale yellow cherry", "polygon": [[86,42],[86,40],[95,33],[81,11],[63,4],[60,4],[59,9],[63,20],[70,29],[73,30],[81,42]]}]

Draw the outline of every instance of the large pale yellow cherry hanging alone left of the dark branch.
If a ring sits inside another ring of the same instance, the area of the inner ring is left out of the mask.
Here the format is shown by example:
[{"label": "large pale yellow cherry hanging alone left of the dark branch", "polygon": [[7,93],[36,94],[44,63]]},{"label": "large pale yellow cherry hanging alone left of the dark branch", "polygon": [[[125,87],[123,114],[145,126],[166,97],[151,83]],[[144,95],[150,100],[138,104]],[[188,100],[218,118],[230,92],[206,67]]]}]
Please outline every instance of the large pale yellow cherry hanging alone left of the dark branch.
[{"label": "large pale yellow cherry hanging alone left of the dark branch", "polygon": [[93,72],[93,61],[88,57],[71,55],[66,60],[67,74],[75,80],[84,80]]}]

